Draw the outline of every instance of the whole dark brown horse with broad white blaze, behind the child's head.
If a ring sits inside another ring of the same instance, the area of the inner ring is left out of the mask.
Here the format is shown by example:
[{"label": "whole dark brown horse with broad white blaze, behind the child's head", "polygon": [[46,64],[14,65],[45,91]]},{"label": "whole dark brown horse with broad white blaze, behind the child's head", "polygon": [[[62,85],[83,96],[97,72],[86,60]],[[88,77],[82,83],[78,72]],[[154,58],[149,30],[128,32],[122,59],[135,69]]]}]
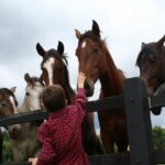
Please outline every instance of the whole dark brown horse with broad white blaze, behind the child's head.
[{"label": "whole dark brown horse with broad white blaze, behind the child's head", "polygon": [[[67,69],[67,58],[64,55],[64,45],[58,42],[57,50],[44,51],[44,48],[36,44],[37,53],[43,57],[41,69],[45,85],[59,84],[66,92],[68,105],[75,99],[75,91],[70,87],[69,76]],[[102,154],[103,150],[99,142],[94,125],[94,114],[88,113],[82,123],[82,144],[88,155]]]}]

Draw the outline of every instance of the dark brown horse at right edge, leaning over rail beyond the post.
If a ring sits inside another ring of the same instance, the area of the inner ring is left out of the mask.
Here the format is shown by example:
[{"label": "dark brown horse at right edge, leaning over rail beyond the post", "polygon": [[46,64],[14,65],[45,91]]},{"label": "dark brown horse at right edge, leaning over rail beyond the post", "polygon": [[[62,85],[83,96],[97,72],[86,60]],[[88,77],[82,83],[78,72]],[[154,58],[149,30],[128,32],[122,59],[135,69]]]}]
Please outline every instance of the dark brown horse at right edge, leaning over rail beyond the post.
[{"label": "dark brown horse at right edge, leaning over rail beyond the post", "polygon": [[[136,59],[140,68],[140,77],[144,80],[148,96],[165,91],[165,36],[158,42],[142,43]],[[152,109],[154,114],[161,113],[161,108]]]}]

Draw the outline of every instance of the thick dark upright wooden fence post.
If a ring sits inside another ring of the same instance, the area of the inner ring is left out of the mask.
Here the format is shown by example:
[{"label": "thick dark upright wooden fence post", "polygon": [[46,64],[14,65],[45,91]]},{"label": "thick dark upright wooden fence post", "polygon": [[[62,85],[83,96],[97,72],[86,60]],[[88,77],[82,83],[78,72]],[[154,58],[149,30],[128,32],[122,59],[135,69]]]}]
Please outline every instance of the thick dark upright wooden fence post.
[{"label": "thick dark upright wooden fence post", "polygon": [[155,165],[146,89],[140,78],[124,81],[131,165]]}]

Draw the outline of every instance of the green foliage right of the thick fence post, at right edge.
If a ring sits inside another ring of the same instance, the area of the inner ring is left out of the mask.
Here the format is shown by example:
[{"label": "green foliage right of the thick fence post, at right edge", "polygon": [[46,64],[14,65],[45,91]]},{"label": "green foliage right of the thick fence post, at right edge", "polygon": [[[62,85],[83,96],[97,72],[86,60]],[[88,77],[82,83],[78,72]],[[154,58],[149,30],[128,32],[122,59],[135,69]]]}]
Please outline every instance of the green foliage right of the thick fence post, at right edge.
[{"label": "green foliage right of the thick fence post, at right edge", "polygon": [[165,129],[161,127],[153,128],[154,148],[165,150]]}]

